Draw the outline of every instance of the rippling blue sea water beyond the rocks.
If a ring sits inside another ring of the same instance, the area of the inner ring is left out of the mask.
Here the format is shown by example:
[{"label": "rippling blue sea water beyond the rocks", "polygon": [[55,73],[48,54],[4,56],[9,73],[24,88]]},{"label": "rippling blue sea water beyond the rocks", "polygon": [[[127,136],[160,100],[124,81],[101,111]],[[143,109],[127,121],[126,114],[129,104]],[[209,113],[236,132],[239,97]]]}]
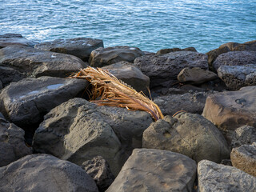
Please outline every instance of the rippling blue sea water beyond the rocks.
[{"label": "rippling blue sea water beyond the rocks", "polygon": [[194,46],[205,53],[256,39],[255,0],[0,0],[0,34],[36,42],[100,38],[141,50]]}]

